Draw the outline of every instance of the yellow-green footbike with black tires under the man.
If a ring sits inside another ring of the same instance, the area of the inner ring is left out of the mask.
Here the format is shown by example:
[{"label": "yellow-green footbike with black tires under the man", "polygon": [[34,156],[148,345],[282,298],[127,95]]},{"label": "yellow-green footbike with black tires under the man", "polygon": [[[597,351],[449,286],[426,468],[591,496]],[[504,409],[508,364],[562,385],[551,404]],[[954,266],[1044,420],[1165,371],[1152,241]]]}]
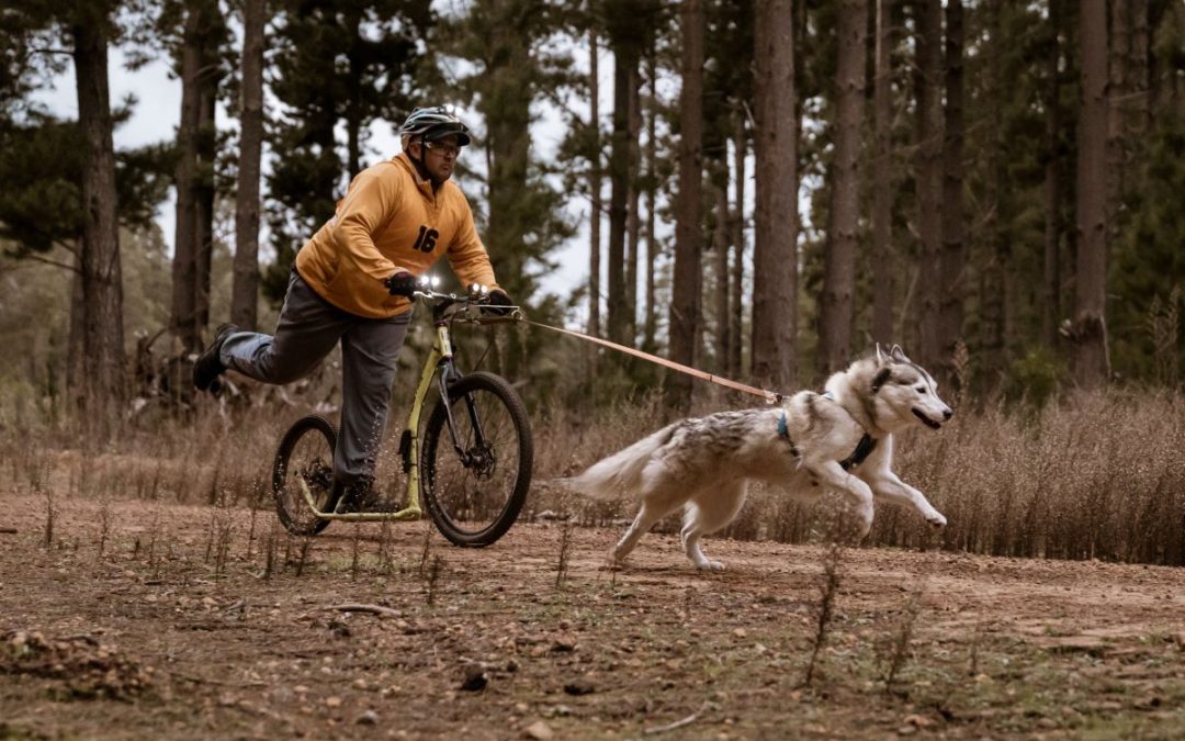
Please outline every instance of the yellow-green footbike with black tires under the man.
[{"label": "yellow-green footbike with black tires under the man", "polygon": [[[526,407],[501,376],[457,370],[451,327],[514,322],[521,312],[489,306],[488,296],[475,287],[455,295],[422,286],[414,298],[431,307],[435,337],[399,439],[408,477],[403,509],[341,511],[342,491],[333,481],[337,429],[325,417],[310,415],[284,433],[273,466],[276,512],[289,532],[315,535],[335,520],[418,519],[422,500],[446,538],[481,548],[502,537],[518,518],[531,486],[533,448]],[[430,397],[435,404],[424,415]]]}]

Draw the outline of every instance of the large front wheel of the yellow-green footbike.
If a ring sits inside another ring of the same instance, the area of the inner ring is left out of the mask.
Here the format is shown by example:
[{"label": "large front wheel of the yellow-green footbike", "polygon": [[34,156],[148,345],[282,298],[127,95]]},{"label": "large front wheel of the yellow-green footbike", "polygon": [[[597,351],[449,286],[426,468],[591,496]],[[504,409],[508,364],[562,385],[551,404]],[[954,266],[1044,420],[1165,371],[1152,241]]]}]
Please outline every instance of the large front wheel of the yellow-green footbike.
[{"label": "large front wheel of the yellow-green footbike", "polygon": [[428,420],[422,459],[424,506],[444,537],[481,548],[506,535],[531,487],[532,456],[526,407],[505,379],[476,372],[450,385]]}]

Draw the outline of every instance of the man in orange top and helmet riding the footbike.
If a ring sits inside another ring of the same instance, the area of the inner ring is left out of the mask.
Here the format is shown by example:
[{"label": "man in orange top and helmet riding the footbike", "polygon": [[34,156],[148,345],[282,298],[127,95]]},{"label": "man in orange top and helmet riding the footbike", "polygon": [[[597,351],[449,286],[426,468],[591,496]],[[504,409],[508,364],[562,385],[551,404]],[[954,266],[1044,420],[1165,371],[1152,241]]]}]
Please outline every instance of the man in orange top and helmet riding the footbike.
[{"label": "man in orange top and helmet riding the footbike", "polygon": [[417,108],[399,128],[403,152],[358,173],[337,212],[296,255],[274,336],[218,328],[193,366],[193,385],[218,391],[228,369],[265,383],[308,375],[341,343],[341,432],[333,455],[339,511],[389,510],[372,487],[396,358],[418,276],[443,255],[463,285],[510,306],[449,183],[469,129],[444,108]]}]

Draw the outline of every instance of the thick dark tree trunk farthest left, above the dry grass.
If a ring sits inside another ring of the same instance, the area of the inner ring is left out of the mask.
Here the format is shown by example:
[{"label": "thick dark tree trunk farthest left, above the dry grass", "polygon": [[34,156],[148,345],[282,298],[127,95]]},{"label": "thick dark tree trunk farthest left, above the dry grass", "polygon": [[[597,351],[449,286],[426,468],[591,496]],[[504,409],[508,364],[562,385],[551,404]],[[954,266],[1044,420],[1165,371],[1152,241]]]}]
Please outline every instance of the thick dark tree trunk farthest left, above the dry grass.
[{"label": "thick dark tree trunk farthest left, above the dry grass", "polygon": [[127,387],[115,146],[107,69],[108,23],[104,12],[97,18],[83,15],[72,28],[78,127],[83,133],[83,398],[88,417],[104,422],[117,410]]}]

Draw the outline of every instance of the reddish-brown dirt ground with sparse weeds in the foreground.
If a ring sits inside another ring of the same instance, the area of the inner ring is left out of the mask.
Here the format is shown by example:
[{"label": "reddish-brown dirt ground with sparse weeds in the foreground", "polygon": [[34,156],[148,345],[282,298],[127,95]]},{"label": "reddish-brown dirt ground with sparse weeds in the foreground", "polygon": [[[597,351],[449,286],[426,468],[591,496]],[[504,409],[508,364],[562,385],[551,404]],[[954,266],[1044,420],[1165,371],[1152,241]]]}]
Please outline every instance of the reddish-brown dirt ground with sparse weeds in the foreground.
[{"label": "reddish-brown dirt ground with sparse weeds in the foreground", "polygon": [[1181,569],[0,494],[0,739],[1185,737]]}]

